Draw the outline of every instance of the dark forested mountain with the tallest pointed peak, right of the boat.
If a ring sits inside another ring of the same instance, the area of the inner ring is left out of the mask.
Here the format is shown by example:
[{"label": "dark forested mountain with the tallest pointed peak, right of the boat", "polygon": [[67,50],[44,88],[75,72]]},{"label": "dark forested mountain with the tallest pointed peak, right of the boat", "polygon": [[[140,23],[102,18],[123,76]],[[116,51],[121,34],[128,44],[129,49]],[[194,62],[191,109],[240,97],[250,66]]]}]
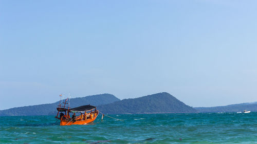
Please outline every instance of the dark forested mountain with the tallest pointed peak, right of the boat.
[{"label": "dark forested mountain with the tallest pointed peak, right of the boat", "polygon": [[190,106],[185,105],[169,93],[157,93],[139,98],[129,98],[98,106],[99,111],[108,114],[144,114],[144,113],[193,113]]}]

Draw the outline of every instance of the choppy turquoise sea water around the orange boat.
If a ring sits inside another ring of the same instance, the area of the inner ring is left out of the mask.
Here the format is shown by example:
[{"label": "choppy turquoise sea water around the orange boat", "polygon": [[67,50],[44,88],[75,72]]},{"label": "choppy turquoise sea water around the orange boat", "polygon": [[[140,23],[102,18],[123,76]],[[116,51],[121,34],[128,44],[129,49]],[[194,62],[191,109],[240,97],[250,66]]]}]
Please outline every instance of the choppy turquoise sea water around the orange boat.
[{"label": "choppy turquoise sea water around the orange boat", "polygon": [[54,116],[0,117],[0,143],[257,143],[257,113],[101,115],[59,126]]}]

